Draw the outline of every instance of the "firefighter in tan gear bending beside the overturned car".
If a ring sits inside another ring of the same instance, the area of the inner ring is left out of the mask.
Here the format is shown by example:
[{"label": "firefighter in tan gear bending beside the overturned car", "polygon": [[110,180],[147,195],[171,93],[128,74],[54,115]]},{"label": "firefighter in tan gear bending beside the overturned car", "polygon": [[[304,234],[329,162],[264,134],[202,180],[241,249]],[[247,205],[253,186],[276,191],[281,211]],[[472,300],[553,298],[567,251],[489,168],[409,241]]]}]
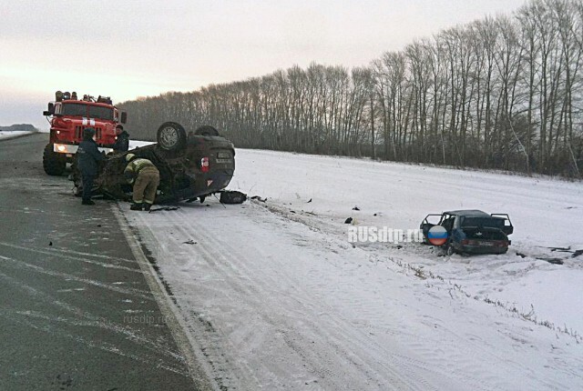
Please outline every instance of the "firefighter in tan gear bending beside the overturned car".
[{"label": "firefighter in tan gear bending beside the overturned car", "polygon": [[149,210],[156,199],[156,191],[160,184],[160,173],[156,165],[148,159],[134,154],[126,155],[128,165],[124,175],[129,184],[134,184],[131,210]]}]

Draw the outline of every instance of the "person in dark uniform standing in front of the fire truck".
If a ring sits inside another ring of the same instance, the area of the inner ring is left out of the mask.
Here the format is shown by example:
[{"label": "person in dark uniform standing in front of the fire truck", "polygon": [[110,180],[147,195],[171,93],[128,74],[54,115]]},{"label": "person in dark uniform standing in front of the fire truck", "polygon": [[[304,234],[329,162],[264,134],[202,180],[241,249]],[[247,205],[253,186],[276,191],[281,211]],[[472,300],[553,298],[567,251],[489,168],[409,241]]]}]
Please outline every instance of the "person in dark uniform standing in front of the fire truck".
[{"label": "person in dark uniform standing in front of the fire truck", "polygon": [[106,160],[106,156],[99,153],[97,143],[93,137],[95,137],[95,129],[87,127],[83,130],[83,141],[81,141],[77,149],[77,165],[83,180],[83,201],[81,202],[83,205],[95,205],[95,202],[91,200],[91,190],[93,189],[93,181],[97,176],[97,164]]}]

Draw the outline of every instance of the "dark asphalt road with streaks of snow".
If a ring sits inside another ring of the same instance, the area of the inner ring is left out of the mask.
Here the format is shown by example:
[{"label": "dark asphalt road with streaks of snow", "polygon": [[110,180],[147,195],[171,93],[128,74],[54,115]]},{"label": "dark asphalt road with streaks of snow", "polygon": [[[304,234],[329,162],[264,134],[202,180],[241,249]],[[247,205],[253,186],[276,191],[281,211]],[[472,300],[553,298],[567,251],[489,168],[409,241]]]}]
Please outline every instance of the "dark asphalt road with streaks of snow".
[{"label": "dark asphalt road with streaks of snow", "polygon": [[111,202],[46,175],[47,138],[0,141],[0,390],[195,389]]}]

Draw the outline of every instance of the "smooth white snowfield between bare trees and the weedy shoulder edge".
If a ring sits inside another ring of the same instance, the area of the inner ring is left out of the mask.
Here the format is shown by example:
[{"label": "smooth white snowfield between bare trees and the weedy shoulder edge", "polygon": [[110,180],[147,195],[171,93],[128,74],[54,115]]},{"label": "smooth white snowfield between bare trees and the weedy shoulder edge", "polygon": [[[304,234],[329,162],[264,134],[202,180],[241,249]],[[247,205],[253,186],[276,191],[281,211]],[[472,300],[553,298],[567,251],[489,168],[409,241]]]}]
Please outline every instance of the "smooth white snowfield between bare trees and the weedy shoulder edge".
[{"label": "smooth white snowfield between bare trees and the weedy shoulder edge", "polygon": [[[583,307],[577,283],[583,281],[583,255],[571,258],[572,252],[549,248],[583,249],[578,235],[583,231],[583,183],[259,150],[239,150],[237,157],[231,187],[267,197],[271,209],[340,238],[348,238],[340,223],[349,216],[356,226],[406,232],[418,228],[427,214],[446,210],[508,213],[515,234],[505,256],[442,257],[416,244],[403,245],[405,251],[395,255],[465,286],[473,296],[516,304],[525,313],[534,306],[539,320],[583,335],[577,310]],[[397,250],[386,244],[356,246],[373,253]],[[564,265],[538,258],[561,258]]]}]

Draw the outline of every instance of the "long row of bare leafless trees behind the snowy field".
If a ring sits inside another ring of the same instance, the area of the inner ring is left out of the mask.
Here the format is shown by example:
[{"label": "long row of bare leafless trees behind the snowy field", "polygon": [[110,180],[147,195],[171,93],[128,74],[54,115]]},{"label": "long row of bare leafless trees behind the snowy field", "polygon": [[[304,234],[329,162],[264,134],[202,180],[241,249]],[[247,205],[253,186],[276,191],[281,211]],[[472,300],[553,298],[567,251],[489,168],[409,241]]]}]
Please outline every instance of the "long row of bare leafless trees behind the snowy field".
[{"label": "long row of bare leafless trees behind the snowy field", "polygon": [[583,0],[533,0],[386,52],[122,103],[133,137],[214,125],[239,147],[581,177]]}]

